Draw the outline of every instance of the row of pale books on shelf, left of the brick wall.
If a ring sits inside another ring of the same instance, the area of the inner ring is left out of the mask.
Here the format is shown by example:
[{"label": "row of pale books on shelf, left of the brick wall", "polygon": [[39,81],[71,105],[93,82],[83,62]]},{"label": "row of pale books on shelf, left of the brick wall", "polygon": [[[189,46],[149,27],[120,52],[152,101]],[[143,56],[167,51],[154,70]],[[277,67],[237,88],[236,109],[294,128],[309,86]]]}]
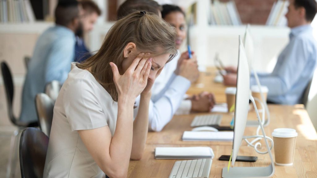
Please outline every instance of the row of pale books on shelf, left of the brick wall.
[{"label": "row of pale books on shelf, left of the brick wall", "polygon": [[210,25],[241,25],[236,3],[213,0],[210,7]]}]

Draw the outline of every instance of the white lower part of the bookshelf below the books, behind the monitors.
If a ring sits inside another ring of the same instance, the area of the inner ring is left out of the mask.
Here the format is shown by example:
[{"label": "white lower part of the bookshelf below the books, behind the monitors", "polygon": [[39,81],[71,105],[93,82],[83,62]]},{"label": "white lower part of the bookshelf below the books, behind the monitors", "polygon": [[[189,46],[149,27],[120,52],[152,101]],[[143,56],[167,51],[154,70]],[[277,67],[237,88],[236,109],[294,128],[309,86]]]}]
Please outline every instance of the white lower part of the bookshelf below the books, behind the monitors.
[{"label": "white lower part of the bookshelf below the books, behind the monitors", "polygon": [[[191,48],[197,54],[198,64],[214,66],[214,56],[218,53],[224,65],[236,66],[238,35],[243,37],[245,29],[246,25],[191,27]],[[290,29],[251,25],[250,32],[254,40],[254,67],[259,72],[271,72],[277,55],[288,43]]]}]

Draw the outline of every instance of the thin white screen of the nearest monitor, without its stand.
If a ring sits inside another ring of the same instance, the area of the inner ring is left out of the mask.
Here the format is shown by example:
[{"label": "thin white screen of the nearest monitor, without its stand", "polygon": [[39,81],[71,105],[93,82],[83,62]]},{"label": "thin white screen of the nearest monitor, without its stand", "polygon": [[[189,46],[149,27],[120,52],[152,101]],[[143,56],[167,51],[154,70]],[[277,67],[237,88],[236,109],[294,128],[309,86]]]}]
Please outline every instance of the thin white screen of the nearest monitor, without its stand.
[{"label": "thin white screen of the nearest monitor, without its stand", "polygon": [[237,91],[233,135],[232,165],[236,162],[249,112],[250,75],[247,56],[239,36],[239,57],[237,70]]}]

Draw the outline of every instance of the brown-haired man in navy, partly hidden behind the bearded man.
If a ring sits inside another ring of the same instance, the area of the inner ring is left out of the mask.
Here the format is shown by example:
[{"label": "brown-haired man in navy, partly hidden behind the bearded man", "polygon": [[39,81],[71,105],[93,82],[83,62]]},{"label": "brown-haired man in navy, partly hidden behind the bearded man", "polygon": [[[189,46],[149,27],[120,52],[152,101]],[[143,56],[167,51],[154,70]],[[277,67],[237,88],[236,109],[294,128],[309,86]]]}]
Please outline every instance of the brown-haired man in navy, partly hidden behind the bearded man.
[{"label": "brown-haired man in navy, partly hidden behind the bearded man", "polygon": [[75,61],[81,62],[88,59],[91,54],[85,45],[83,37],[94,29],[98,17],[101,15],[101,10],[98,5],[92,0],[81,0],[81,7],[83,9],[83,16],[80,23],[80,30],[76,33],[75,43]]}]

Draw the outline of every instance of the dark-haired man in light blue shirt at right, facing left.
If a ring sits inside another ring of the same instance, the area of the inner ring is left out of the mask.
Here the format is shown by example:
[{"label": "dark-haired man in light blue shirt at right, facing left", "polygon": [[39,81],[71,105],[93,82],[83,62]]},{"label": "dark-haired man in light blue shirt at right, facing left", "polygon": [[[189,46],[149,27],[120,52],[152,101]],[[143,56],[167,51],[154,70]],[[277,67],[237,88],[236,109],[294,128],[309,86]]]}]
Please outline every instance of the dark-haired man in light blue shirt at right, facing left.
[{"label": "dark-haired man in light blue shirt at right, facing left", "polygon": [[[278,57],[272,73],[259,73],[261,85],[268,87],[268,102],[294,105],[302,102],[303,93],[312,79],[317,61],[317,43],[310,23],[316,15],[315,0],[290,0],[289,43]],[[230,71],[230,68],[228,70]],[[236,74],[224,76],[224,84],[235,85]],[[253,74],[250,86],[256,85]]]}]

